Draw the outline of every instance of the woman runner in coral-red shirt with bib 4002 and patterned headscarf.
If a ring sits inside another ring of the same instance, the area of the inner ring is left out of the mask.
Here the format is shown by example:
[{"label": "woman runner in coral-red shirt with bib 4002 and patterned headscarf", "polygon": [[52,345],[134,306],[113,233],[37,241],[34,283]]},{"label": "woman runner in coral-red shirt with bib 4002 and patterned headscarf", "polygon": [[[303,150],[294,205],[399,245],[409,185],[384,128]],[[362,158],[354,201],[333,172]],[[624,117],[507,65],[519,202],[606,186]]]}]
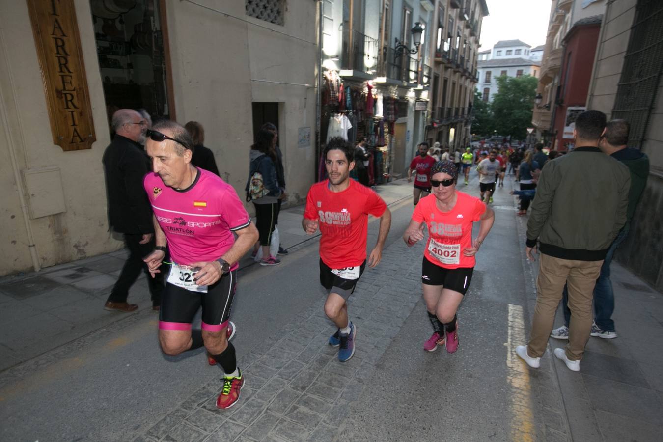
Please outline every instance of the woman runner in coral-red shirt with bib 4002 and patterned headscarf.
[{"label": "woman runner in coral-red shirt with bib 4002 and patterned headscarf", "polygon": [[[421,281],[433,335],[424,343],[426,351],[435,351],[442,344],[448,353],[457,350],[456,311],[472,279],[474,256],[495,220],[493,210],[481,199],[456,190],[457,178],[453,162],[436,162],[431,176],[433,193],[416,205],[403,235],[411,247],[424,239],[424,223],[428,228]],[[477,221],[481,227],[473,241],[472,225]]]}]

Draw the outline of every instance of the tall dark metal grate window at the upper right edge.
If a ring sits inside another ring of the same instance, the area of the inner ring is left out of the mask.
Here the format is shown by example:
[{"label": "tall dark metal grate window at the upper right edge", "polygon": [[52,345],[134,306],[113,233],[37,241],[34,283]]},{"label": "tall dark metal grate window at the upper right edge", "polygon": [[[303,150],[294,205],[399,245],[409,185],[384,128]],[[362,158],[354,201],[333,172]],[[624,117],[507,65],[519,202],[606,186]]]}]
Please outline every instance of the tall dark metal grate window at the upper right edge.
[{"label": "tall dark metal grate window at the upper right edge", "polygon": [[629,147],[640,148],[663,71],[663,2],[638,0],[612,117],[631,123]]}]

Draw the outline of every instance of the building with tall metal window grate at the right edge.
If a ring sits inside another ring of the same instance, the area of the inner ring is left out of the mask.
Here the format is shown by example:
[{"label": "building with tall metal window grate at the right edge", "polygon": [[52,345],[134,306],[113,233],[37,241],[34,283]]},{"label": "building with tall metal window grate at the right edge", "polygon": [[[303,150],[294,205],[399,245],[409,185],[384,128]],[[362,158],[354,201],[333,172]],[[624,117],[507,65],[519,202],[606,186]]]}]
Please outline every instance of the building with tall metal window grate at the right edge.
[{"label": "building with tall metal window grate at the right edge", "polygon": [[587,109],[629,121],[629,146],[649,156],[647,186],[616,258],[658,291],[663,291],[662,16],[658,1],[607,2],[587,97]]}]

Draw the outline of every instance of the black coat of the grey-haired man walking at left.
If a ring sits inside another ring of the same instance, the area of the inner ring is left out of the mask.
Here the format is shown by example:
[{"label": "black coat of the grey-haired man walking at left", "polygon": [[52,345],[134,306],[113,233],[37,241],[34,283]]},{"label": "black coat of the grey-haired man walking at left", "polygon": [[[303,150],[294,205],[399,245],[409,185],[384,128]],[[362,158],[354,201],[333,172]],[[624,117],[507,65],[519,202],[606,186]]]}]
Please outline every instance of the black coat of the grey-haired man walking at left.
[{"label": "black coat of the grey-haired man walking at left", "polygon": [[143,178],[151,168],[141,149],[141,144],[115,135],[103,152],[108,221],[119,233],[154,233],[152,207],[143,188]]}]

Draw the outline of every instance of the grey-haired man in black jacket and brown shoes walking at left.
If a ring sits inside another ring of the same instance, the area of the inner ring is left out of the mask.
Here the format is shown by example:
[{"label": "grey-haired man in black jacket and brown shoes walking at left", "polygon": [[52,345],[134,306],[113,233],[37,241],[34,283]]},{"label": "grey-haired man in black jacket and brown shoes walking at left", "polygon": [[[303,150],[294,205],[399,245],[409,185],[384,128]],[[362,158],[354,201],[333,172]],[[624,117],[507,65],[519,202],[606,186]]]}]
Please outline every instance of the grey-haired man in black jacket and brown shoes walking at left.
[{"label": "grey-haired man in black jacket and brown shoes walking at left", "polygon": [[[111,229],[123,233],[129,257],[104,309],[110,311],[134,311],[136,304],[129,304],[129,287],[141,270],[148,269],[143,257],[154,250],[154,225],[152,208],[143,189],[143,178],[149,172],[149,160],[143,152],[147,123],[140,113],[132,109],[119,109],[111,121],[115,138],[103,152],[103,169],[108,197],[108,220]],[[163,290],[162,273],[156,278],[147,276],[152,308],[158,310]]]}]

